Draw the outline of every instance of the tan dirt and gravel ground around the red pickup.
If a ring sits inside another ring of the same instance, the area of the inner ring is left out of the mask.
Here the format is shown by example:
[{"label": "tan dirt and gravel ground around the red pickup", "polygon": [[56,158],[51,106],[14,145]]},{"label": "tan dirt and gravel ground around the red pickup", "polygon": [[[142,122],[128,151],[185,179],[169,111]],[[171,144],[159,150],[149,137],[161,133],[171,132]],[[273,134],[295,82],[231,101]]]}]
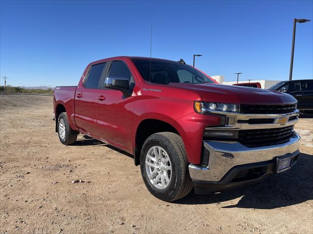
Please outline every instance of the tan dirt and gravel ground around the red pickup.
[{"label": "tan dirt and gravel ground around the red pickup", "polygon": [[51,118],[52,97],[0,95],[0,233],[313,233],[313,118],[291,170],[174,203],[130,155],[83,135],[62,145]]}]

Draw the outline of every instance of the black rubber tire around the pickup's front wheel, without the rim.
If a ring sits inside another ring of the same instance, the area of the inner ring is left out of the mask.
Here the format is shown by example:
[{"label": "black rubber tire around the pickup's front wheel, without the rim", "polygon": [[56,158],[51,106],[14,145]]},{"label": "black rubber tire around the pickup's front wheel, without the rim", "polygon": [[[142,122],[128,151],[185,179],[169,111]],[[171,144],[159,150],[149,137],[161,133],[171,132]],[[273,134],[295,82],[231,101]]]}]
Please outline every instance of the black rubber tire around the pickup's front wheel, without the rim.
[{"label": "black rubber tire around the pickup's front wheel, without the rim", "polygon": [[[172,164],[172,175],[167,187],[156,188],[148,178],[145,165],[146,155],[153,146],[163,148]],[[140,169],[143,181],[149,192],[163,201],[175,201],[190,193],[193,188],[189,176],[186,151],[181,137],[175,133],[162,132],[151,135],[144,142],[140,154]]]}]

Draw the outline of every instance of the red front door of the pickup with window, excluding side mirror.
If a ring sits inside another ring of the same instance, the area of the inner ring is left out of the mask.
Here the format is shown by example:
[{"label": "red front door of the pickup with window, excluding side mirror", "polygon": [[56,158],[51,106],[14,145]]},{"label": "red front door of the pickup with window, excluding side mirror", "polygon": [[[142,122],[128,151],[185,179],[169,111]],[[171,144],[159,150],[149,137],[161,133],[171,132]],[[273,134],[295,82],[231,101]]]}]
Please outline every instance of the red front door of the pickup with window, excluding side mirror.
[{"label": "red front door of the pickup with window, excluding side mirror", "polygon": [[[101,90],[103,99],[97,100],[96,133],[101,138],[131,150],[131,127],[135,98],[135,94],[132,92],[135,85],[134,77],[124,61],[108,62],[107,70],[108,75],[105,82],[108,82],[110,78],[127,78],[131,96],[125,96],[119,90],[103,87]],[[103,84],[103,86],[105,85]]]}]

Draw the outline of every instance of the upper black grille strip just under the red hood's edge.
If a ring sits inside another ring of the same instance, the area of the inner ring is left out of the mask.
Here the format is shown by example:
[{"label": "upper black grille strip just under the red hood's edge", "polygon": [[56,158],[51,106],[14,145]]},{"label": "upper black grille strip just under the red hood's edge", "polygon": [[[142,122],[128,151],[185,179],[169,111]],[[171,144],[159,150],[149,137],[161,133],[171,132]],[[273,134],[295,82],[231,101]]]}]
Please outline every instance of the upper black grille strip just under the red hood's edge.
[{"label": "upper black grille strip just under the red hood's edge", "polygon": [[288,105],[240,105],[244,114],[286,114],[296,110],[296,104]]}]

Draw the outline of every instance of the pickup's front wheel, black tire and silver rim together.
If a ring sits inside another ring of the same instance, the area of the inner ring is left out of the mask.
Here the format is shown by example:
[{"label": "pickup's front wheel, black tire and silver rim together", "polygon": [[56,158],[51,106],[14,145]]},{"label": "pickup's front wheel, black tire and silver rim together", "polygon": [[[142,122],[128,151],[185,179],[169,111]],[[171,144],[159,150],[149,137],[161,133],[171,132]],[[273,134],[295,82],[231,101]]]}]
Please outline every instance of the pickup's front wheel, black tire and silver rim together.
[{"label": "pickup's front wheel, black tire and silver rim together", "polygon": [[146,139],[140,169],[149,192],[161,200],[175,201],[192,190],[185,147],[175,133],[156,133]]}]

